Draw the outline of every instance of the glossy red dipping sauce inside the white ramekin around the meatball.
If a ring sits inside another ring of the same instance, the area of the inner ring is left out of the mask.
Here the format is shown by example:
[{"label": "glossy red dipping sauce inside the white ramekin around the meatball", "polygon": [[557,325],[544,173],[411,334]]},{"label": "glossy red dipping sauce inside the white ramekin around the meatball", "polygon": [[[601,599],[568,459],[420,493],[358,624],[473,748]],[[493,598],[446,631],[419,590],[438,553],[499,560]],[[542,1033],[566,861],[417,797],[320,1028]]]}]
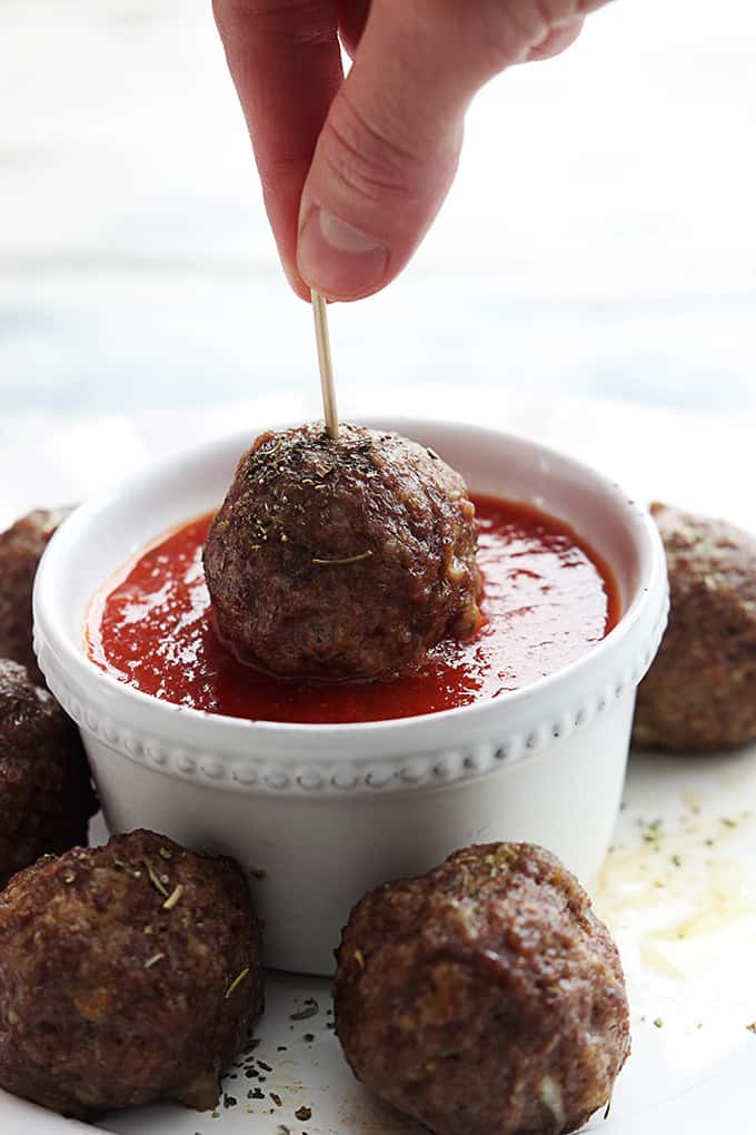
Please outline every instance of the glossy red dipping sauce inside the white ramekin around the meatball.
[{"label": "glossy red dipping sauce inside the white ramekin around the meatball", "polygon": [[92,604],[90,657],[153,697],[252,721],[387,721],[499,697],[581,657],[619,617],[606,566],[564,524],[473,495],[483,623],[385,678],[277,678],[219,640],[202,569],[212,514],[163,537]]}]

